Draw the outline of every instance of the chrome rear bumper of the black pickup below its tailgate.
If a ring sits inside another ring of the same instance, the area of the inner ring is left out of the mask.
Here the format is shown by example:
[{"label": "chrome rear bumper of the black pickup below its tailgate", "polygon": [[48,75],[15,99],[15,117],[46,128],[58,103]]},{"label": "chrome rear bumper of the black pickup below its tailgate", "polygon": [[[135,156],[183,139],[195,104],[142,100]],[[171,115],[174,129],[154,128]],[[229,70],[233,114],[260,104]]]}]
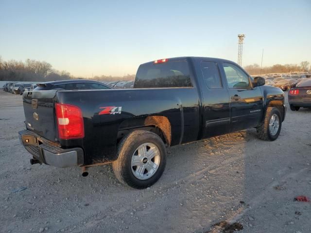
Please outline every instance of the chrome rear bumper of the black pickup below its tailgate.
[{"label": "chrome rear bumper of the black pickup below its tailgate", "polygon": [[25,149],[41,164],[56,167],[82,166],[84,164],[82,148],[62,149],[56,143],[29,130],[19,131],[18,136]]}]

